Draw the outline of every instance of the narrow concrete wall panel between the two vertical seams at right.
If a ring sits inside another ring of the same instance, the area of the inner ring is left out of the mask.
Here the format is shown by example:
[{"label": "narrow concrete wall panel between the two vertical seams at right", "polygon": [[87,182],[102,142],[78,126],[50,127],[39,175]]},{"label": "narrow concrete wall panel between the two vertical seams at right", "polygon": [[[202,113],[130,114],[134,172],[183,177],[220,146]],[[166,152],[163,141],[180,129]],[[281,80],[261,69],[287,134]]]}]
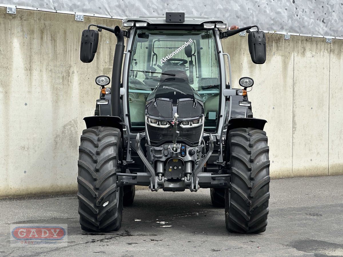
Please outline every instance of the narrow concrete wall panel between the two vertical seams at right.
[{"label": "narrow concrete wall panel between the two vertical seams at right", "polygon": [[293,37],[294,176],[328,175],[330,44]]}]

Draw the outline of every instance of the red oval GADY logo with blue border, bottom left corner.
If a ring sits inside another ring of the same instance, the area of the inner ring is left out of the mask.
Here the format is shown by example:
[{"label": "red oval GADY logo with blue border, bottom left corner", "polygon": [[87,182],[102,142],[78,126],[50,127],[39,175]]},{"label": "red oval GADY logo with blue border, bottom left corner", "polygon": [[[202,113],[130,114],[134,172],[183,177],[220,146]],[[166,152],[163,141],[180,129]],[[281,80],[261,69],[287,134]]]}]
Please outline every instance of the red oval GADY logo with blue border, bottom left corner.
[{"label": "red oval GADY logo with blue border, bottom left corner", "polygon": [[16,240],[61,240],[65,235],[62,227],[15,227],[12,230]]}]

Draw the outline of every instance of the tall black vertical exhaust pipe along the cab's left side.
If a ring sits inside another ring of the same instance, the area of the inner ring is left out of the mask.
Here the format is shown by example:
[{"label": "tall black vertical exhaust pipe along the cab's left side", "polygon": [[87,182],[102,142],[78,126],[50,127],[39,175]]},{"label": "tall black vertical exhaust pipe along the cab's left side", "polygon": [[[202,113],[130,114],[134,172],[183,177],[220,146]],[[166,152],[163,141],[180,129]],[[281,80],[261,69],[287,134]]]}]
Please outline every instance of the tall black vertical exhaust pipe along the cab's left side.
[{"label": "tall black vertical exhaust pipe along the cab's left side", "polygon": [[120,78],[125,45],[123,31],[119,26],[114,28],[114,34],[117,37],[117,44],[112,68],[111,116],[120,117]]}]

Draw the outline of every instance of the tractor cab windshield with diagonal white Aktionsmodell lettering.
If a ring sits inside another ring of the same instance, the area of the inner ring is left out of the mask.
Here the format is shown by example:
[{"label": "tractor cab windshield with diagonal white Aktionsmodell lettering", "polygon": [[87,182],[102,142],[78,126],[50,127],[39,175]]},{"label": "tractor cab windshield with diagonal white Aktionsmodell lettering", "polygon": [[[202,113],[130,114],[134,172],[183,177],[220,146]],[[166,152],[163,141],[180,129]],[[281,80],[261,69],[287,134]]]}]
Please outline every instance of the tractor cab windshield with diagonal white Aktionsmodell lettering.
[{"label": "tractor cab windshield with diagonal white Aktionsmodell lettering", "polygon": [[212,30],[147,30],[134,35],[128,73],[128,105],[132,131],[144,130],[145,102],[167,78],[185,79],[202,97],[205,131],[216,129],[220,69]]}]

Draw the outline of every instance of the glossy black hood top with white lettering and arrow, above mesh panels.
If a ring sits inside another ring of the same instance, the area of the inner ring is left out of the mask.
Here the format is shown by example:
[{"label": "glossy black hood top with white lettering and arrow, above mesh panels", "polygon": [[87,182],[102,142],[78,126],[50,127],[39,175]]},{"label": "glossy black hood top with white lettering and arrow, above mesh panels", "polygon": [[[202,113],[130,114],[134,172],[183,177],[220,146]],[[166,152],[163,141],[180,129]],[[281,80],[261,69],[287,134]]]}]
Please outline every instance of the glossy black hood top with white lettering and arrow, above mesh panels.
[{"label": "glossy black hood top with white lettering and arrow, above mesh panels", "polygon": [[202,98],[198,92],[182,78],[165,79],[151,92],[146,101],[149,102],[152,99],[158,98],[169,99],[173,103],[177,103],[180,99],[191,98],[202,103]]}]

